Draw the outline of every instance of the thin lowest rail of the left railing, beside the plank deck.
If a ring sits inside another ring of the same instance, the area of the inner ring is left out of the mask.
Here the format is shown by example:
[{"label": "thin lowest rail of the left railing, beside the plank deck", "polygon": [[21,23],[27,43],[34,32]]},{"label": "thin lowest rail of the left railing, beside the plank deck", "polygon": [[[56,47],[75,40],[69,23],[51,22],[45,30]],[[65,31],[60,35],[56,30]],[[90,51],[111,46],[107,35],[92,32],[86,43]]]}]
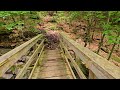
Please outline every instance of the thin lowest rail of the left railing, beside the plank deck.
[{"label": "thin lowest rail of the left railing, beside the plank deck", "polygon": [[[42,49],[41,49],[41,51],[40,51],[40,55],[39,55],[38,59],[36,60],[35,65],[34,65],[32,71],[31,71],[30,76],[29,76],[28,79],[32,79],[32,78],[33,78],[33,76],[34,76],[34,75],[33,75],[33,74],[34,74],[34,71],[35,71],[36,67],[38,66],[38,61],[41,60],[41,56],[42,56],[42,53],[43,53],[43,49],[44,49],[44,46],[42,47]],[[35,76],[37,76],[37,75],[35,75]],[[35,77],[34,79],[36,79],[36,78],[37,78],[37,77]]]}]

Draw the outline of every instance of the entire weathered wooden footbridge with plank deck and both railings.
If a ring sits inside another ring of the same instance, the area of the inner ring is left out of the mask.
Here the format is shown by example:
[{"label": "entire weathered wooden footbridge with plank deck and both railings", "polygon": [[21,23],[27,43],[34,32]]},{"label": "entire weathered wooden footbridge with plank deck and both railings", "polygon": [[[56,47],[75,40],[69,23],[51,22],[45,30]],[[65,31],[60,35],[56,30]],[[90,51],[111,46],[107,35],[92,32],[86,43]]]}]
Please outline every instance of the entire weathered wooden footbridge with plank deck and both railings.
[{"label": "entire weathered wooden footbridge with plank deck and both railings", "polygon": [[60,32],[48,50],[42,34],[0,57],[0,77],[10,79],[120,79],[120,68]]}]

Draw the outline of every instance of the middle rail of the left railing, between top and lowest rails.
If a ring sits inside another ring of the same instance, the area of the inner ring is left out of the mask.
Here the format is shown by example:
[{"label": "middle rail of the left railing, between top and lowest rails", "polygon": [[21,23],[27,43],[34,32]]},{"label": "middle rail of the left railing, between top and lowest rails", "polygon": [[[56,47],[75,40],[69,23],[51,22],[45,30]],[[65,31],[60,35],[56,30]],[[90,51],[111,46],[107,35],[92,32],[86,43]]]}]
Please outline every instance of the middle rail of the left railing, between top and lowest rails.
[{"label": "middle rail of the left railing, between top and lowest rails", "polygon": [[33,55],[30,57],[30,59],[27,61],[27,63],[21,69],[21,71],[18,73],[18,75],[16,76],[15,79],[22,79],[23,75],[27,71],[27,68],[30,66],[30,64],[32,63],[32,61],[34,60],[34,58],[36,58],[38,56],[38,52],[40,51],[41,47],[43,46],[43,42],[44,42],[44,40],[40,43],[40,45],[38,46],[38,48],[35,50],[35,52],[33,53]]}]

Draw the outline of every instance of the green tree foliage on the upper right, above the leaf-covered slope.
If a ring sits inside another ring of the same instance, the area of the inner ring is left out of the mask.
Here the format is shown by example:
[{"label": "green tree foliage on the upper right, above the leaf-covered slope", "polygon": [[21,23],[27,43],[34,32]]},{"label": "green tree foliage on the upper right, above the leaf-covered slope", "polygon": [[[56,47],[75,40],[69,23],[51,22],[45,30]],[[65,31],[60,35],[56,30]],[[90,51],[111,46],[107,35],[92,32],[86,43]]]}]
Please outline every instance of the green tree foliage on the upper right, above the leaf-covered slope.
[{"label": "green tree foliage on the upper right, above the leaf-covered slope", "polygon": [[[71,22],[82,18],[88,22],[88,26],[102,28],[102,33],[107,37],[109,44],[120,44],[118,35],[120,33],[120,11],[67,11],[66,13],[59,11],[56,16],[57,22]],[[95,20],[96,26],[94,26]]]}]

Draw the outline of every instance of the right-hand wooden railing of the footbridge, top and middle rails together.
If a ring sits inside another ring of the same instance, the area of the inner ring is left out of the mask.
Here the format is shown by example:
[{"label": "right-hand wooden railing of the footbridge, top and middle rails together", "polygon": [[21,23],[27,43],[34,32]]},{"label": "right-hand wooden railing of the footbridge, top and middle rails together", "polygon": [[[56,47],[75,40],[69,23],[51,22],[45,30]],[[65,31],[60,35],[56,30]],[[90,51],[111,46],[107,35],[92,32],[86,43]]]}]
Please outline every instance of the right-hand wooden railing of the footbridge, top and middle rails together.
[{"label": "right-hand wooden railing of the footbridge, top and middle rails together", "polygon": [[60,41],[67,59],[70,60],[80,78],[85,79],[86,76],[68,52],[69,49],[75,52],[75,57],[79,58],[89,70],[89,79],[120,79],[120,68],[112,62],[81,46],[64,32],[60,32]]}]

